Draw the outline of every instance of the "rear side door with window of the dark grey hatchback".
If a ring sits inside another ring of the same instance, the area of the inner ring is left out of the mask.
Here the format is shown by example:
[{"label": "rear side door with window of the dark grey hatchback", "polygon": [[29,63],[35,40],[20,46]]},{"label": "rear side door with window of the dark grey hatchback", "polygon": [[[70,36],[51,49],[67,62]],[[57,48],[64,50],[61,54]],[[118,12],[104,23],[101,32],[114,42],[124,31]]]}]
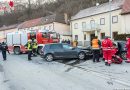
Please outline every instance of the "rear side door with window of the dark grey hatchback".
[{"label": "rear side door with window of the dark grey hatchback", "polygon": [[50,49],[52,50],[52,53],[54,54],[55,58],[63,58],[63,49],[61,44],[52,44]]}]

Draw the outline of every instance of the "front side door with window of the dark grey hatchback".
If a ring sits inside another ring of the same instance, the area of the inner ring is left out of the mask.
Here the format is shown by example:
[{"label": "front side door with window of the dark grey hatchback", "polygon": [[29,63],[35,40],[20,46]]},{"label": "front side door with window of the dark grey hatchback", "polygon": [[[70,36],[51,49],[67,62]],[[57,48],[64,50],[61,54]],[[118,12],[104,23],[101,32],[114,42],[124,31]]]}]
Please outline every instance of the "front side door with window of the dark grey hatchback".
[{"label": "front side door with window of the dark grey hatchback", "polygon": [[71,47],[68,44],[63,44],[64,49],[64,57],[65,58],[76,58],[77,57],[77,50]]}]

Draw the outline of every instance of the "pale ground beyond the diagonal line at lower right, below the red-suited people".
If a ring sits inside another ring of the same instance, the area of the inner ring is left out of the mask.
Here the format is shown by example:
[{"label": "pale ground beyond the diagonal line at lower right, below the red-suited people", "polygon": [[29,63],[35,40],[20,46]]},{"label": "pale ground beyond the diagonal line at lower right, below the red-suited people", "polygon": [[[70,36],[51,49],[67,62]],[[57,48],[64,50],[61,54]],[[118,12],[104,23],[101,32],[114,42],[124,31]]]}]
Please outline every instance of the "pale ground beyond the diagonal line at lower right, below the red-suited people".
[{"label": "pale ground beyond the diagonal line at lower right, below the red-suited people", "polygon": [[93,63],[92,61],[87,61],[78,66],[121,80],[130,86],[130,63],[123,62],[122,64],[112,64],[111,67],[106,67],[103,62]]}]

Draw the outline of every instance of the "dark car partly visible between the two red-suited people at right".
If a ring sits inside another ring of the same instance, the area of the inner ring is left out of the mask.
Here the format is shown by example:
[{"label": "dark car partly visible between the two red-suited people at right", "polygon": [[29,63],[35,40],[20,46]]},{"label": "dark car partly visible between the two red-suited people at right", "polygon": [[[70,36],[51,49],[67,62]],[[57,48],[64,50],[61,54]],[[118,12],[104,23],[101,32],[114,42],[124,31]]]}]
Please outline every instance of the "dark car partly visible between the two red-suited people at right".
[{"label": "dark car partly visible between the two red-suited people at right", "polygon": [[125,41],[115,41],[114,43],[116,43],[117,47],[118,47],[118,52],[117,54],[120,55],[120,57],[124,60],[126,60],[126,48],[125,48]]}]

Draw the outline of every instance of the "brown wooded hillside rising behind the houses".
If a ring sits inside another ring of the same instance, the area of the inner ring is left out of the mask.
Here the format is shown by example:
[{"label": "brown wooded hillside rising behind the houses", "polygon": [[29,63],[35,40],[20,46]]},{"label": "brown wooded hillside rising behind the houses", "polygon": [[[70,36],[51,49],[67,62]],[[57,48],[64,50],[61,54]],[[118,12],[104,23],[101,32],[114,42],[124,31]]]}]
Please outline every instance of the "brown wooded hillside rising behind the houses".
[{"label": "brown wooded hillside rising behind the houses", "polygon": [[[31,3],[31,0],[28,0],[26,5],[17,4],[15,11],[0,16],[0,26],[20,23],[53,13],[67,13],[70,18],[79,10],[95,6],[97,2],[101,4],[109,0],[56,0],[54,2],[48,0],[48,2],[42,3],[43,1],[37,0],[37,3]],[[19,10],[20,7],[22,10]]]}]

